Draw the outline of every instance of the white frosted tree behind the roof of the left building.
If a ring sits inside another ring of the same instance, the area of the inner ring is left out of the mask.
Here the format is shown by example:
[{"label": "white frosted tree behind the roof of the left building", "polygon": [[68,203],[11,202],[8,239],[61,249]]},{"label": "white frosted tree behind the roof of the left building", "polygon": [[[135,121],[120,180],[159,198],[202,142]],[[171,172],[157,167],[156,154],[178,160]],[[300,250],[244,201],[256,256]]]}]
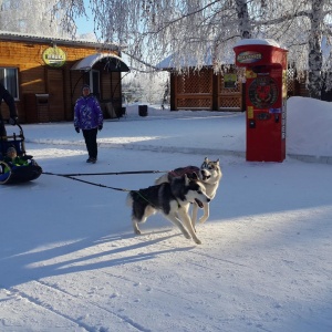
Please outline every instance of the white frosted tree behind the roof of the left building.
[{"label": "white frosted tree behind the roof of the left building", "polygon": [[[39,35],[68,37],[62,29],[62,10],[54,14],[58,0],[0,0],[0,30]],[[70,22],[68,22],[70,23]],[[74,24],[71,25],[71,30]]]}]

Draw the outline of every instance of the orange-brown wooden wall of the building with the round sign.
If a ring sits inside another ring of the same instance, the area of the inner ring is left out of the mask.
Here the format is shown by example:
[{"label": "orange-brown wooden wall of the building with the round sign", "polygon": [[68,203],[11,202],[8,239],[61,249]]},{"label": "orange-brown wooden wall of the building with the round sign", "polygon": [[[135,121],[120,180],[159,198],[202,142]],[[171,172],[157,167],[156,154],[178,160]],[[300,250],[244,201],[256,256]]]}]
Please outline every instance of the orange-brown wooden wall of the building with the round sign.
[{"label": "orange-brown wooden wall of the building with the round sign", "polygon": [[[71,71],[79,60],[98,52],[100,44],[87,42],[61,42],[56,40],[66,55],[64,65],[52,68],[43,61],[43,52],[55,45],[55,42],[40,41],[39,38],[25,38],[17,35],[0,35],[0,68],[17,69],[18,72],[18,98],[15,105],[21,123],[72,121],[73,107],[81,95],[81,86],[86,82],[87,73]],[[118,54],[117,52],[113,52]],[[121,73],[100,71],[101,98],[117,100],[121,106]],[[115,91],[111,90],[116,86]],[[3,118],[9,117],[6,103],[1,104]]]}]

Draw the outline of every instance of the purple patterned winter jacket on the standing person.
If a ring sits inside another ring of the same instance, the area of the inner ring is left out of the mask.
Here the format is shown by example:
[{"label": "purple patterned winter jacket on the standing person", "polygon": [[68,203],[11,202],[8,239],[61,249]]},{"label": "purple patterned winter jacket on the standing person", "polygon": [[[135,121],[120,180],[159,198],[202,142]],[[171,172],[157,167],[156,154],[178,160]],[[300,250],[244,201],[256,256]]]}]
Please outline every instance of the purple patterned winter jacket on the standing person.
[{"label": "purple patterned winter jacket on the standing person", "polygon": [[96,97],[92,94],[77,98],[74,107],[74,126],[92,129],[103,125],[103,112]]}]

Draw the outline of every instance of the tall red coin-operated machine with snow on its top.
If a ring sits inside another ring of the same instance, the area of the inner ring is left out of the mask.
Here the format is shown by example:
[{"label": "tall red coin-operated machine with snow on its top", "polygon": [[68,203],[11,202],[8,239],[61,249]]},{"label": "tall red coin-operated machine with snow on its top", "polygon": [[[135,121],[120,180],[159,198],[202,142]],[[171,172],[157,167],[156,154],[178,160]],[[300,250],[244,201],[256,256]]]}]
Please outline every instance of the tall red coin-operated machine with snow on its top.
[{"label": "tall red coin-operated machine with snow on its top", "polygon": [[246,39],[234,48],[246,68],[248,162],[286,158],[287,50],[272,40]]}]

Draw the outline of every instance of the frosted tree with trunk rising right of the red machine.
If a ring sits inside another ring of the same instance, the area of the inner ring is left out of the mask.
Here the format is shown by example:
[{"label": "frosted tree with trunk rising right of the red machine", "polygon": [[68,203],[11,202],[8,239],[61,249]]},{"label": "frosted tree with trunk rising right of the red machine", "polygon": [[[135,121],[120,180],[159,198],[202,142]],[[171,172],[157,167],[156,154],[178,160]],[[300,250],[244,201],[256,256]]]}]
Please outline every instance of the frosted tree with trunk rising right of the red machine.
[{"label": "frosted tree with trunk rising right of the red machine", "polygon": [[[330,0],[266,1],[266,15],[257,20],[263,35],[289,49],[289,62],[298,73],[308,72],[310,95],[320,98],[324,72],[331,70],[329,53],[332,37]],[[323,42],[324,41],[324,42]],[[328,52],[326,52],[328,51]],[[324,82],[331,87],[331,82]]]}]

